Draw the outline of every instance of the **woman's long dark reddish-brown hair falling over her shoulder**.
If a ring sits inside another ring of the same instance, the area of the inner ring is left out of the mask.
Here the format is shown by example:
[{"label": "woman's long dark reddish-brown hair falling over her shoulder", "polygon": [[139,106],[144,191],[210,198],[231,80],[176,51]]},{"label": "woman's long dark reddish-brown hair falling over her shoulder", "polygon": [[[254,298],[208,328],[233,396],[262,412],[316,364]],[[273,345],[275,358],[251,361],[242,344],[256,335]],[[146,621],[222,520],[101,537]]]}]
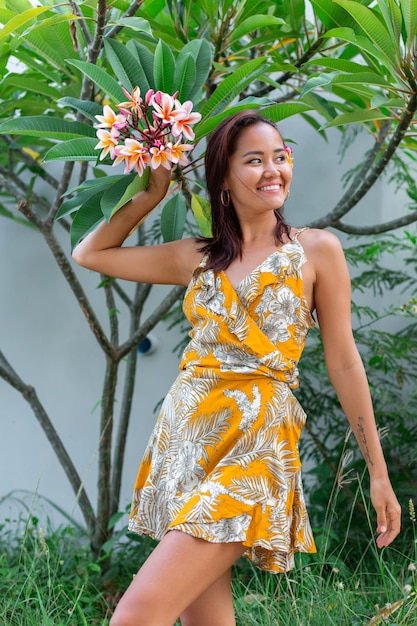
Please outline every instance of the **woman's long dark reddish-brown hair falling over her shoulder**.
[{"label": "woman's long dark reddish-brown hair falling over her shoulder", "polygon": [[[205,170],[207,192],[211,204],[212,238],[201,237],[200,251],[208,255],[207,268],[225,270],[231,262],[242,257],[242,229],[232,201],[227,206],[221,201],[224,177],[229,171],[230,157],[236,149],[241,132],[255,124],[275,124],[257,111],[240,111],[223,120],[211,134],[206,150]],[[290,238],[291,229],[285,223],[280,209],[275,209],[277,220],[274,237],[277,245],[283,244],[283,235]]]}]

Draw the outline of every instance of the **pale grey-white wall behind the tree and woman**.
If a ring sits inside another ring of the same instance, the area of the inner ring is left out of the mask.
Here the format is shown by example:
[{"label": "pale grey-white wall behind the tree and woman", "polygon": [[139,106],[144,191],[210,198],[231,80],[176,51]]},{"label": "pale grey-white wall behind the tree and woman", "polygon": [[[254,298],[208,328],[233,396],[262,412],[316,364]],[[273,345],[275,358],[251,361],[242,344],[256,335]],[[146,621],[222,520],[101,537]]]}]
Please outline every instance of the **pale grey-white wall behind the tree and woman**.
[{"label": "pale grey-white wall behind the tree and woman", "polygon": [[[294,182],[286,216],[301,226],[333,208],[341,194],[340,176],[346,165],[341,168],[338,163],[336,131],[330,133],[329,144],[302,120],[286,121],[281,131],[296,142]],[[350,151],[351,165],[361,160],[367,145],[366,136],[357,140]],[[398,215],[403,201],[379,184],[348,220],[364,224],[391,219]],[[68,249],[67,235],[63,233],[61,238]],[[98,277],[80,268],[76,271],[107,329],[103,294],[96,289]],[[166,288],[154,289],[148,311]],[[102,353],[41,236],[4,218],[0,218],[0,294],[0,349],[19,376],[36,388],[95,506],[99,414],[93,408],[101,396]],[[130,500],[140,457],[155,421],[153,409],[178,367],[178,358],[172,353],[178,342],[177,331],[167,332],[161,323],[154,334],[159,349],[139,362],[122,507]],[[74,494],[30,407],[1,378],[0,420],[0,498],[10,491],[21,497],[16,490],[38,492],[80,520]],[[25,497],[29,504],[31,497]],[[38,502],[37,514],[46,515],[42,509]],[[45,511],[50,509],[45,507]],[[0,506],[0,519],[14,512],[13,501],[8,498]]]}]

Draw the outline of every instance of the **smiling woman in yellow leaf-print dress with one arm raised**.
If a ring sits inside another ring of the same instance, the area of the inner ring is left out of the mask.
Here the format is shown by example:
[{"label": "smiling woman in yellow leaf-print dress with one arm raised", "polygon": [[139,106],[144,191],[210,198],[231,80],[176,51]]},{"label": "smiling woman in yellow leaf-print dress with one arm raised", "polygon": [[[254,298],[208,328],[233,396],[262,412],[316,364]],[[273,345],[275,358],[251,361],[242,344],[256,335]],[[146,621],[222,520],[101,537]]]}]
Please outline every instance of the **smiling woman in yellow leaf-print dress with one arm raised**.
[{"label": "smiling woman in yellow leaf-print dress with one arm raised", "polygon": [[[160,539],[111,626],[235,624],[230,568],[245,554],[288,571],[314,552],[297,442],[305,415],[291,393],[315,311],[326,365],[366,459],[377,544],[399,532],[400,507],[352,337],[350,281],[338,239],[285,224],[291,160],[275,125],[253,111],[223,121],[206,152],[213,239],[122,247],[164,198],[170,173],[75,249],[85,267],[189,286],[191,342],[138,473],[130,529]],[[301,273],[302,268],[302,273]]]}]

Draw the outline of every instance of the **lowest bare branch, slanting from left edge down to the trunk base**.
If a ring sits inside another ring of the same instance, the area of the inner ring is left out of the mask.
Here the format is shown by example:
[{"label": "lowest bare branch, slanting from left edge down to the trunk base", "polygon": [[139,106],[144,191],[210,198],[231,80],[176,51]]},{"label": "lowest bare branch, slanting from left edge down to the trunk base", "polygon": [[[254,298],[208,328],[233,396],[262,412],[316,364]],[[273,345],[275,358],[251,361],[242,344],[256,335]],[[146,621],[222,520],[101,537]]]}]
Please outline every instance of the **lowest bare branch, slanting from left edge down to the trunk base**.
[{"label": "lowest bare branch, slanting from left edge down to the trunk base", "polygon": [[71,457],[69,456],[64,444],[61,441],[61,438],[55,430],[54,425],[52,424],[48,414],[42,406],[35,389],[31,385],[27,385],[23,382],[23,380],[17,375],[17,373],[1,351],[0,376],[4,378],[4,380],[8,382],[14,389],[19,391],[31,407],[77,497],[77,501],[80,505],[80,509],[83,514],[87,528],[89,529],[89,532],[92,532],[96,522],[93,507],[91,506],[90,500],[83,487],[81,478],[74,464],[72,463]]}]

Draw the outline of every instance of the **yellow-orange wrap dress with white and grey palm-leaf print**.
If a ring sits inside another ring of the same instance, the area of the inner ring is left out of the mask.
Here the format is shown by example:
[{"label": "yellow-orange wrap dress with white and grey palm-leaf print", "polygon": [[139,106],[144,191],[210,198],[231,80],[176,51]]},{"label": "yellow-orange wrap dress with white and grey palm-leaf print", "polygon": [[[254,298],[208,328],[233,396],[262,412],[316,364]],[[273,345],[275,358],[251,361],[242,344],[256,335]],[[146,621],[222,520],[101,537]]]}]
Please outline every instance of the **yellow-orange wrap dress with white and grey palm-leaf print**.
[{"label": "yellow-orange wrap dress with white and grey palm-leaf print", "polygon": [[237,287],[205,259],[196,269],[184,298],[191,341],[137,475],[131,531],[240,541],[272,572],[315,552],[298,453],[306,416],[291,392],[314,325],[297,236]]}]

